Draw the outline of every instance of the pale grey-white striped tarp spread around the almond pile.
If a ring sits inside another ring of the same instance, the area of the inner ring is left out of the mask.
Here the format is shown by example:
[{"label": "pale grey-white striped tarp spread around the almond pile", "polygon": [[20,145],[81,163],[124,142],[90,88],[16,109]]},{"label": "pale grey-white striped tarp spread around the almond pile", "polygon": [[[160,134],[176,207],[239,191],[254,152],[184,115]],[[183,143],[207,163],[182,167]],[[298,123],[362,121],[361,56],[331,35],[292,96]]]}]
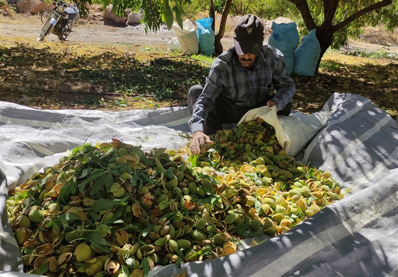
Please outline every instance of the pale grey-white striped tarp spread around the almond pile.
[{"label": "pale grey-white striped tarp spread around the almond pile", "polygon": [[[322,111],[330,116],[296,158],[331,172],[350,194],[263,244],[151,275],[184,269],[190,277],[398,276],[398,125],[357,94],[335,93]],[[187,107],[54,111],[0,102],[1,276],[23,269],[5,211],[12,185],[84,142],[119,137],[146,150],[181,148],[189,117]]]}]

